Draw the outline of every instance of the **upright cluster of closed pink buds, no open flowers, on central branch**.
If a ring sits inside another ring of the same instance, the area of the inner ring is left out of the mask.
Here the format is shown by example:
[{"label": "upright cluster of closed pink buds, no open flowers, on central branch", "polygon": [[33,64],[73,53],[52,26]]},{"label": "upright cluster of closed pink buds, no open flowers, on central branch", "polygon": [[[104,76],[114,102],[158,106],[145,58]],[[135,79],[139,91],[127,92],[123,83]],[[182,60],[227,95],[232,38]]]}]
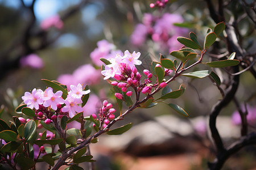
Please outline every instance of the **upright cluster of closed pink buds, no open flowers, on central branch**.
[{"label": "upright cluster of closed pink buds, no open flowers, on central branch", "polygon": [[[103,128],[106,128],[106,126],[108,126],[109,124],[109,120],[113,120],[115,118],[114,116],[114,112],[115,109],[112,108],[112,104],[108,103],[108,101],[104,100],[103,101],[103,106],[102,108],[100,108],[100,113],[98,113],[98,116],[100,117],[100,123],[103,126]],[[97,119],[96,114],[92,114],[94,119]],[[101,126],[100,125],[100,126]],[[96,126],[95,124],[93,124],[93,126]]]}]

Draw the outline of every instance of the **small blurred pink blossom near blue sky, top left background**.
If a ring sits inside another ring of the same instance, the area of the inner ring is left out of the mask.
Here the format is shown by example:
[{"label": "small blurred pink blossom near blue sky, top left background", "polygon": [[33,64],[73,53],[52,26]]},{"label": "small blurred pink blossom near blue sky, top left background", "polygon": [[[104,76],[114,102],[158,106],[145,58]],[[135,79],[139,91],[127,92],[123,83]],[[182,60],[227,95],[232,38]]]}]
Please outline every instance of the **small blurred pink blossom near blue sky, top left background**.
[{"label": "small blurred pink blossom near blue sky, top left background", "polygon": [[41,24],[40,24],[40,27],[43,29],[43,30],[47,30],[51,27],[55,27],[57,29],[61,29],[63,28],[64,26],[64,23],[63,21],[60,19],[60,16],[59,15],[53,15],[53,16],[50,16],[49,18],[46,18],[44,19]]}]

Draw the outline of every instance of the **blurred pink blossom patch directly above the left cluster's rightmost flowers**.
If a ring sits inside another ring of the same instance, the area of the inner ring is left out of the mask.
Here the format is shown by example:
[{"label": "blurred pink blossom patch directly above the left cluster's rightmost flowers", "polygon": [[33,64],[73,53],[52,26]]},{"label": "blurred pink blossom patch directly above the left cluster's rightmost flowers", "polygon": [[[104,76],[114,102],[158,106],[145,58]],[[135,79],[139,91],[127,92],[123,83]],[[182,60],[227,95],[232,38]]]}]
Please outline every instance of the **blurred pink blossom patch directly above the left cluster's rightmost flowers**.
[{"label": "blurred pink blossom patch directly above the left cluster's rightmost flowers", "polygon": [[70,90],[70,85],[85,84],[92,85],[97,84],[101,78],[101,70],[96,70],[92,65],[86,64],[78,67],[73,74],[63,74],[57,78],[57,81],[61,84],[65,84]]}]

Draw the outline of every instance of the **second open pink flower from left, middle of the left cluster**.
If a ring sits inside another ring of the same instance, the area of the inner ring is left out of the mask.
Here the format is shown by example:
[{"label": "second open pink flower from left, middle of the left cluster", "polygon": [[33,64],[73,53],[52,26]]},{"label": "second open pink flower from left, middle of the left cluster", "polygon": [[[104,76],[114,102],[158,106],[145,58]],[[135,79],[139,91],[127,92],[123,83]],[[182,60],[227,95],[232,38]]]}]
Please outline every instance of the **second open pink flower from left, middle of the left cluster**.
[{"label": "second open pink flower from left, middle of the left cluster", "polygon": [[[49,89],[49,88],[48,88]],[[64,104],[64,99],[61,97],[63,94],[62,91],[57,91],[55,94],[53,93],[53,91],[51,89],[49,89],[47,91],[47,96],[43,97],[44,100],[44,107],[49,107],[51,106],[51,108],[53,110],[57,110],[57,105],[58,104]]]}]

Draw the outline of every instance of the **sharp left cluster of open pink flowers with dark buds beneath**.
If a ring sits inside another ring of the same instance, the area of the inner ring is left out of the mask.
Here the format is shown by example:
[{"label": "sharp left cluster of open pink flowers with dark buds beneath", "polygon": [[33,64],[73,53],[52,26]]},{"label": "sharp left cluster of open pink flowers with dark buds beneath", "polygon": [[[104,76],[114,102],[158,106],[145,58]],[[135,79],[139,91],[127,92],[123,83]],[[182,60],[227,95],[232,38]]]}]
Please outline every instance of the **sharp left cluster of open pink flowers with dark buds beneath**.
[{"label": "sharp left cluster of open pink flowers with dark buds beneath", "polygon": [[90,90],[83,91],[81,84],[71,85],[70,88],[65,100],[62,97],[62,91],[53,93],[51,87],[45,91],[34,88],[31,93],[25,92],[22,99],[28,108],[34,109],[35,119],[50,124],[52,121],[56,121],[57,117],[62,117],[65,114],[73,117],[76,113],[83,112],[84,109],[80,106],[82,96],[89,94]]}]

